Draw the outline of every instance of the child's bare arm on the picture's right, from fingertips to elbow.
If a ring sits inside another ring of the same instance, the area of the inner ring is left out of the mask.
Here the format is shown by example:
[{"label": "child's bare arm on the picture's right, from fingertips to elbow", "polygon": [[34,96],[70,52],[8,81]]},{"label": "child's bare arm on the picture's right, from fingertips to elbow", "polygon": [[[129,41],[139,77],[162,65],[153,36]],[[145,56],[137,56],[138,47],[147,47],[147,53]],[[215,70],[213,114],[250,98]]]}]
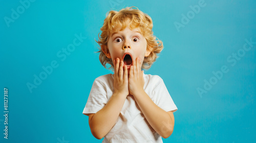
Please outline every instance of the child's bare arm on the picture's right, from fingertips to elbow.
[{"label": "child's bare arm on the picture's right, from fingertips to elbow", "polygon": [[142,113],[151,127],[163,138],[169,137],[174,129],[174,115],[172,111],[166,112],[158,107],[144,91],[143,72],[139,59],[133,62],[130,69],[129,90],[134,96]]}]

